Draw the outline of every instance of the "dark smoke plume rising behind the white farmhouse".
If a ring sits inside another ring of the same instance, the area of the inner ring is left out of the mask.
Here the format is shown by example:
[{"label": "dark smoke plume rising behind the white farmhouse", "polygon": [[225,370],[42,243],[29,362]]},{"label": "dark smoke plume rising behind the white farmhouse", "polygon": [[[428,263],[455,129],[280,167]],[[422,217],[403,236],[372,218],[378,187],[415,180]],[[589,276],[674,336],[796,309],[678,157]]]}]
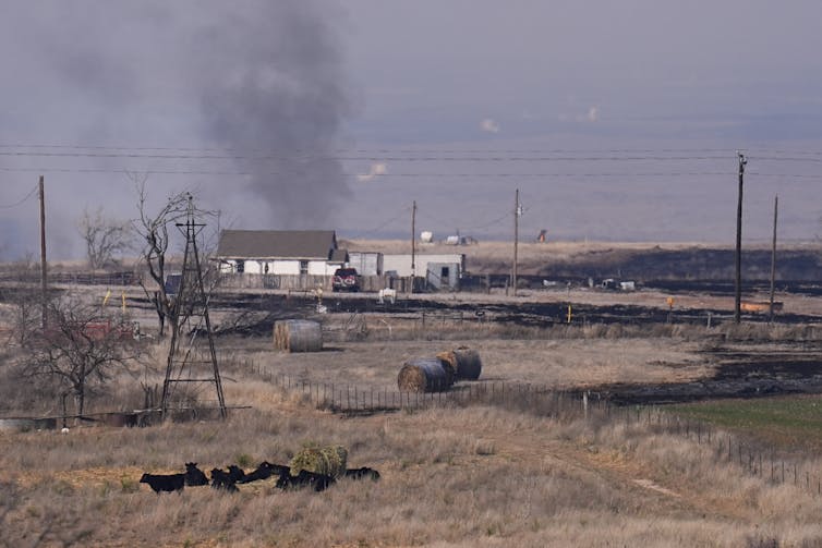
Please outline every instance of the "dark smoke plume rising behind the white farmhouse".
[{"label": "dark smoke plume rising behind the white farmhouse", "polygon": [[269,227],[328,228],[350,193],[335,153],[349,101],[334,12],[305,0],[251,5],[198,35],[208,136],[234,149]]}]

